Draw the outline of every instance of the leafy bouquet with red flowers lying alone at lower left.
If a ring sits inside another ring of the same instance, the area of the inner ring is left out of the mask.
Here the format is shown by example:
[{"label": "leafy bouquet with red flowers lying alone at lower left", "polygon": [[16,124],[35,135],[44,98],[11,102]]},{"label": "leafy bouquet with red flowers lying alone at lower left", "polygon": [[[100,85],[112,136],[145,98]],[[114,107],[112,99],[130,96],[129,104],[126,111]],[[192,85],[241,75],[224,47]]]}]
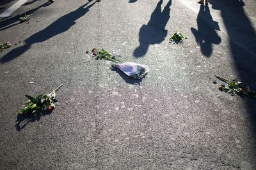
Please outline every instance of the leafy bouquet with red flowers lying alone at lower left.
[{"label": "leafy bouquet with red flowers lying alone at lower left", "polygon": [[41,111],[52,111],[58,104],[58,100],[55,99],[57,90],[60,89],[62,85],[57,87],[57,89],[53,89],[50,94],[40,94],[36,98],[31,97],[29,95],[25,95],[28,97],[28,101],[26,101],[25,107],[19,111],[22,113],[40,113]]}]

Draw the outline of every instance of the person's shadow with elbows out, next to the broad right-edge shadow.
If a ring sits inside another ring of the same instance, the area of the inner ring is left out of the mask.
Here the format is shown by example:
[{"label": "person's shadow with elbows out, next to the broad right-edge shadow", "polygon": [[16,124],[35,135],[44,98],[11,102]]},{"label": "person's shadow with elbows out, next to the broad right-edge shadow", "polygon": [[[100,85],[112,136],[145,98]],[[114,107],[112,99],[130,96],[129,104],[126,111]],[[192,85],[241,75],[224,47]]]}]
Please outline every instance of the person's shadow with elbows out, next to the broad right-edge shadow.
[{"label": "person's shadow with elbows out, next to the broad right-edge shadow", "polygon": [[208,6],[200,5],[200,10],[196,18],[198,30],[191,28],[191,32],[196,38],[196,43],[200,45],[201,52],[210,57],[212,54],[212,44],[220,44],[221,38],[216,30],[220,30],[218,22],[212,20]]}]

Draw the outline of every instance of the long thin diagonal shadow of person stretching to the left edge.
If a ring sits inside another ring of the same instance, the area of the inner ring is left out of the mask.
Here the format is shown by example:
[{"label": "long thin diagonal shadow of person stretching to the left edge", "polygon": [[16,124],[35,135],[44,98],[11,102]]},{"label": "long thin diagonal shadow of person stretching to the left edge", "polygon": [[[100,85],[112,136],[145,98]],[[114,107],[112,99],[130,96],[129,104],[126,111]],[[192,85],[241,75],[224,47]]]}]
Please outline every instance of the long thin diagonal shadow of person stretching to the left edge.
[{"label": "long thin diagonal shadow of person stretching to the left edge", "polygon": [[[64,15],[63,17],[58,18],[55,22],[53,22],[51,25],[43,29],[42,31],[36,32],[32,36],[30,36],[28,39],[25,40],[25,45],[20,46],[18,48],[13,49],[11,52],[7,53],[1,58],[1,62],[9,62],[10,60],[13,60],[22,53],[26,52],[29,50],[30,46],[35,44],[35,43],[40,43],[43,41],[46,41],[47,39],[52,38],[53,36],[56,36],[58,34],[61,34],[62,32],[67,31],[72,27],[72,25],[76,24],[75,20],[77,20],[80,17],[83,17],[89,9],[95,4],[97,1],[94,3],[89,4],[90,2],[84,4],[83,6],[77,8],[77,10],[72,11],[68,13],[67,15]],[[84,6],[87,6],[84,8]]]}]

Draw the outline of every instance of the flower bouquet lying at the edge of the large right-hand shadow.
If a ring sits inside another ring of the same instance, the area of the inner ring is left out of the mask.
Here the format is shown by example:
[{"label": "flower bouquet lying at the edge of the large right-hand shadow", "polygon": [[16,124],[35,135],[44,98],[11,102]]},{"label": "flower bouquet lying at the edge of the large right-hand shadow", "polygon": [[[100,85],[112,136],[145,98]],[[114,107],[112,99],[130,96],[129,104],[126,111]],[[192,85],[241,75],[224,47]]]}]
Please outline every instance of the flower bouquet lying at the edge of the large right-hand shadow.
[{"label": "flower bouquet lying at the edge of the large right-hand shadow", "polygon": [[215,75],[215,76],[216,76],[216,78],[218,78],[221,81],[224,81],[225,83],[228,84],[228,87],[225,87],[224,84],[221,85],[221,87],[219,87],[219,89],[221,91],[224,91],[224,92],[230,94],[231,96],[236,96],[237,94],[240,94],[240,95],[256,98],[256,92],[254,90],[250,89],[250,87],[244,86],[242,82],[237,81],[237,80],[228,81],[225,78],[221,78],[220,76],[217,76],[217,75]]}]

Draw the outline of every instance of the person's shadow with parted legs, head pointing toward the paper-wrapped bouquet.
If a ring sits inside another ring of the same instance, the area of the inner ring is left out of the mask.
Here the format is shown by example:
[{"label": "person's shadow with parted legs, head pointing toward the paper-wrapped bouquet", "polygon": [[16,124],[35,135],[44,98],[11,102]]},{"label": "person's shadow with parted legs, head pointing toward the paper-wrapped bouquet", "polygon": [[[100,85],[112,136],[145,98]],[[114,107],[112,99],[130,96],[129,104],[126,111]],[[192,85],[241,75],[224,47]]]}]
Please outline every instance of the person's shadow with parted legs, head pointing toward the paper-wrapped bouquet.
[{"label": "person's shadow with parted legs, head pointing toward the paper-wrapped bouquet", "polygon": [[134,52],[134,57],[142,57],[148,51],[149,45],[161,43],[167,35],[165,26],[170,18],[170,6],[172,0],[170,0],[164,10],[161,11],[161,4],[163,0],[157,3],[156,9],[153,11],[150,20],[147,25],[142,25],[139,33],[140,46],[138,46]]}]

